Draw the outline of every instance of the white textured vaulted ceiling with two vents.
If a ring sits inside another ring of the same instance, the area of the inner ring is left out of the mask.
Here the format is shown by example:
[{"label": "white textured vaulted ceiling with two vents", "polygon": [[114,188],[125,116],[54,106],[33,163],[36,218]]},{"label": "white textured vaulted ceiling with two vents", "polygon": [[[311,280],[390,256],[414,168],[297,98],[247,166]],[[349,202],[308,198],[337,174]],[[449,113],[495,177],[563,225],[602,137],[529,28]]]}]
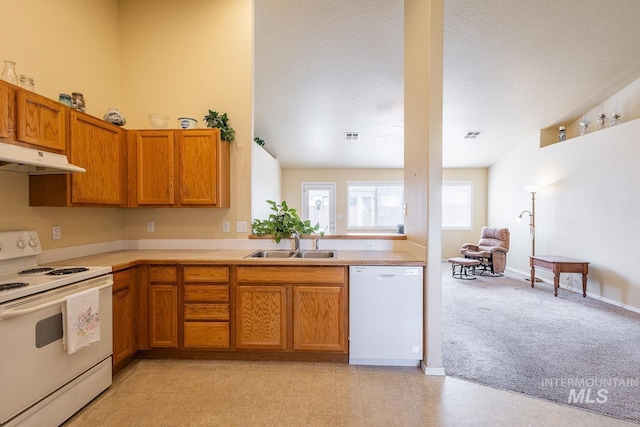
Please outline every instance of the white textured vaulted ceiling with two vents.
[{"label": "white textured vaulted ceiling with two vents", "polygon": [[[638,0],[445,0],[443,166],[489,166],[639,78],[638,22]],[[283,167],[402,167],[402,27],[398,0],[255,1],[254,132]]]}]

